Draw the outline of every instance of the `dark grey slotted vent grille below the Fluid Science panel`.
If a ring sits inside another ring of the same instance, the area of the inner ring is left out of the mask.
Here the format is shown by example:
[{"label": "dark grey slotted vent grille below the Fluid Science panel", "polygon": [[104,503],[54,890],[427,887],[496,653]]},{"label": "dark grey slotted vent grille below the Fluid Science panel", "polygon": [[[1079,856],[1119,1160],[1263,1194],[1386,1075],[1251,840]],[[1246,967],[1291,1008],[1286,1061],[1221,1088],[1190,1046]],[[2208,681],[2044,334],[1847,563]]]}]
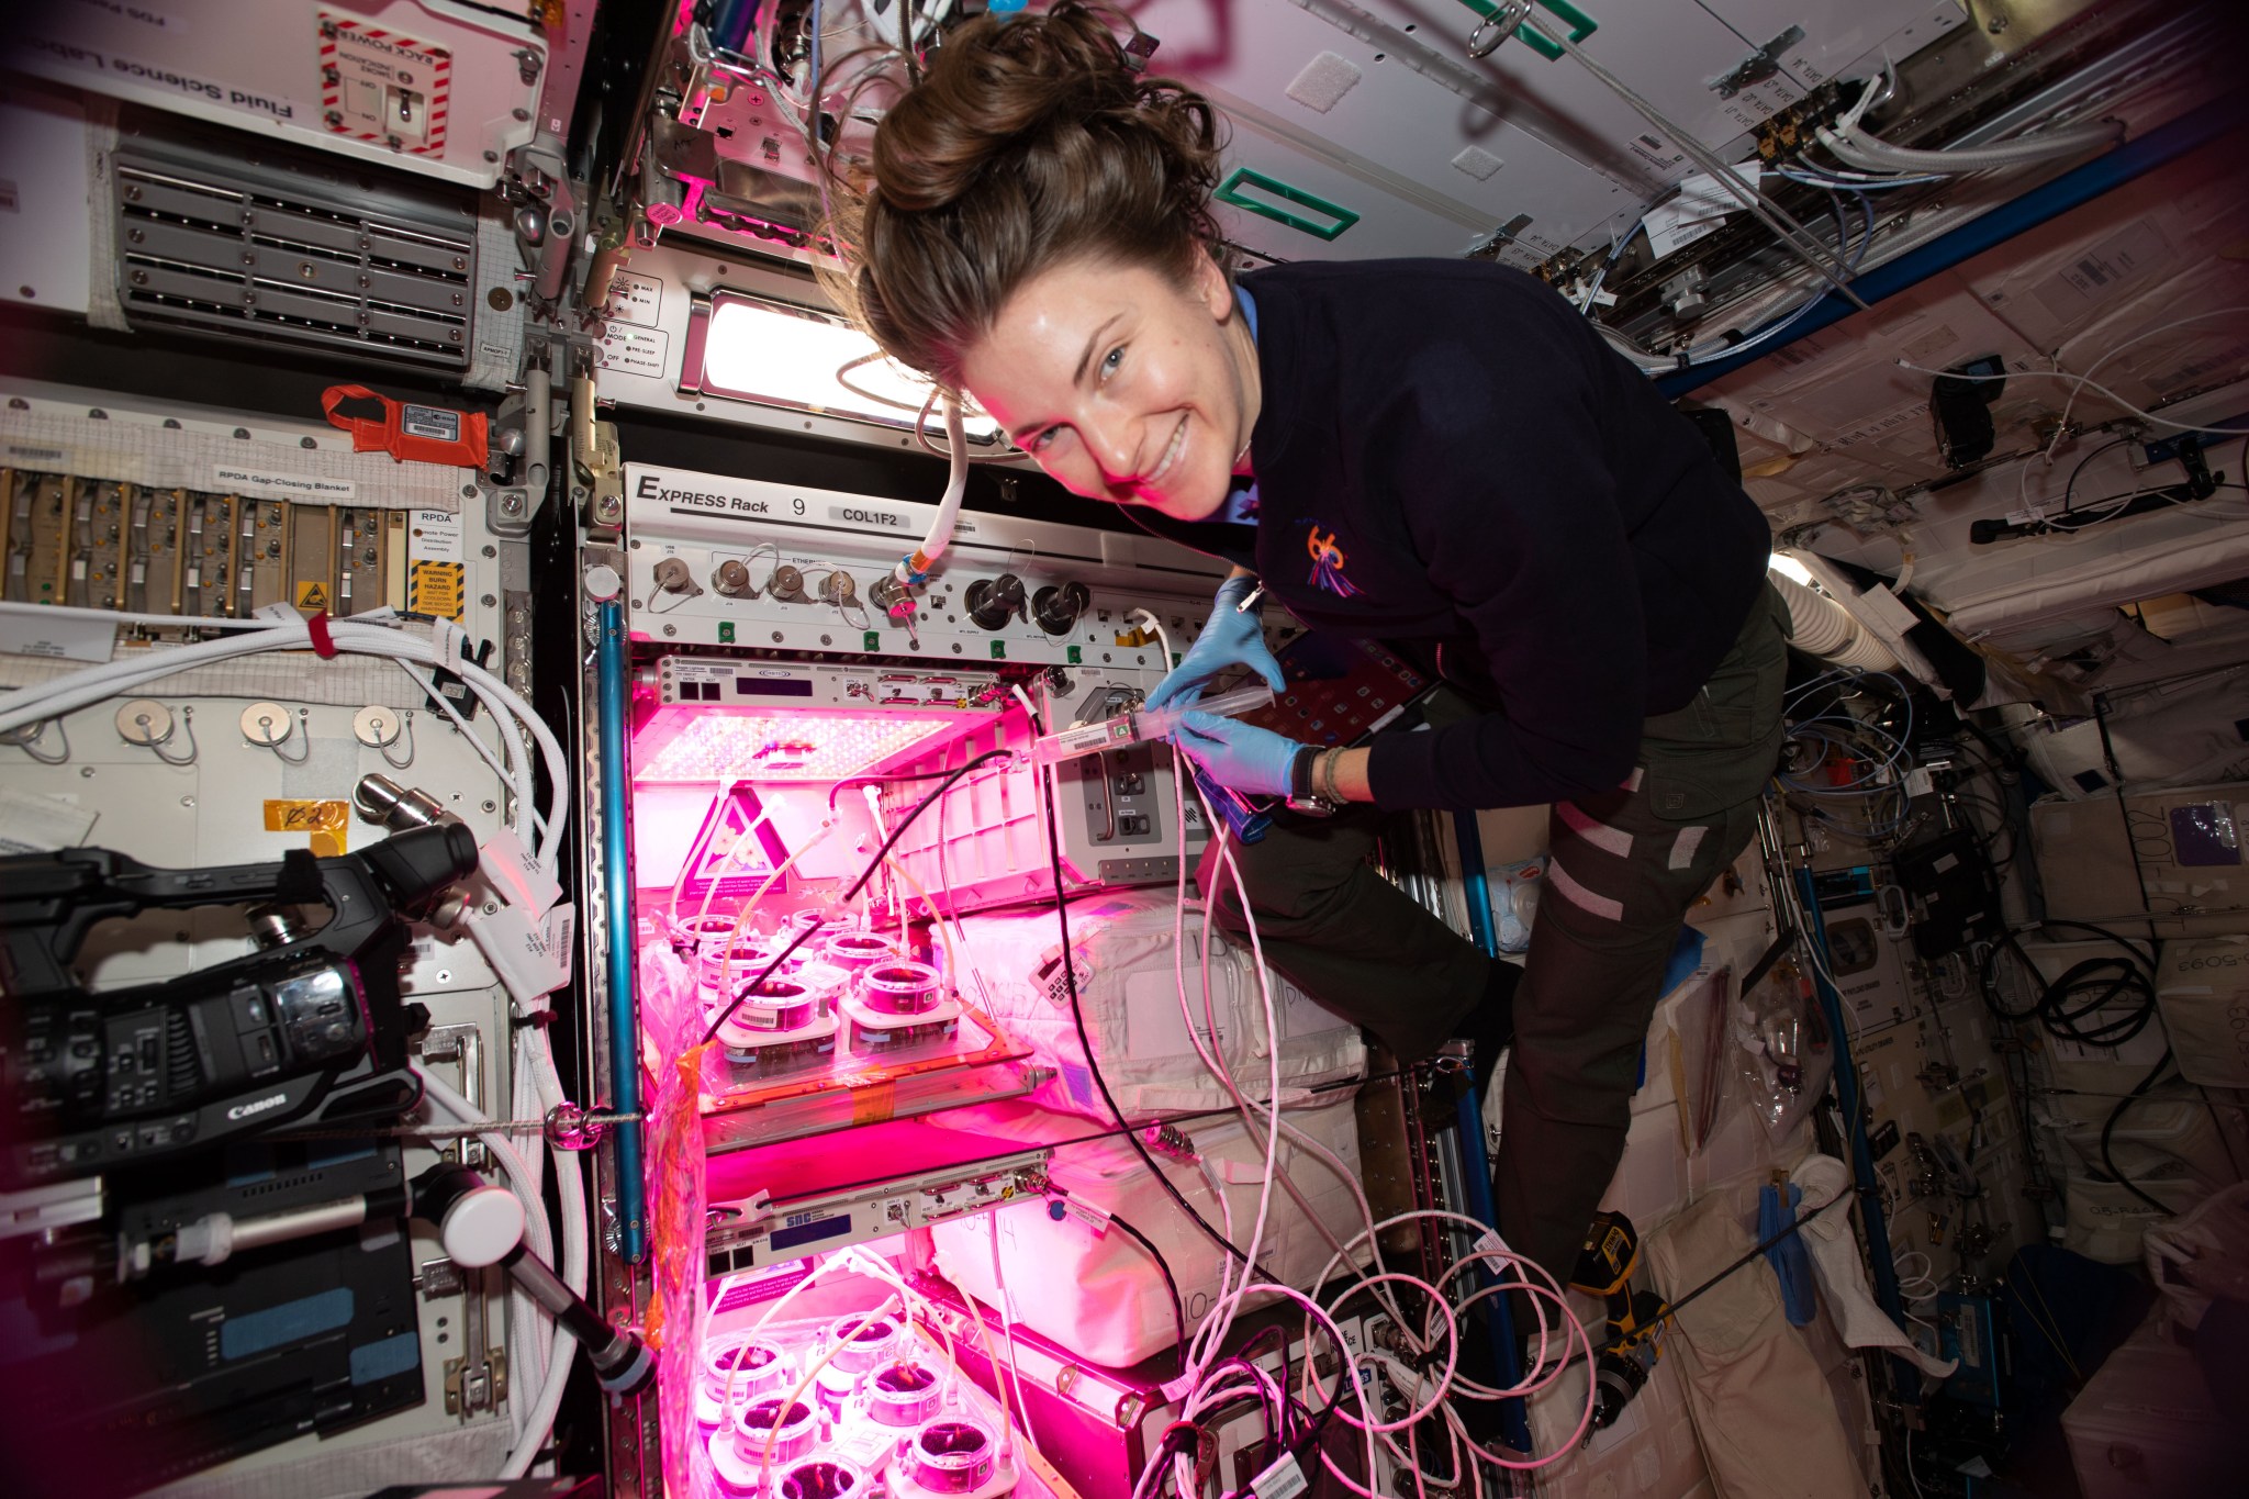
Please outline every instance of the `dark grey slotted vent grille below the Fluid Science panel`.
[{"label": "dark grey slotted vent grille below the Fluid Science panel", "polygon": [[115,193],[117,297],[135,324],[468,369],[468,234],[124,155]]}]

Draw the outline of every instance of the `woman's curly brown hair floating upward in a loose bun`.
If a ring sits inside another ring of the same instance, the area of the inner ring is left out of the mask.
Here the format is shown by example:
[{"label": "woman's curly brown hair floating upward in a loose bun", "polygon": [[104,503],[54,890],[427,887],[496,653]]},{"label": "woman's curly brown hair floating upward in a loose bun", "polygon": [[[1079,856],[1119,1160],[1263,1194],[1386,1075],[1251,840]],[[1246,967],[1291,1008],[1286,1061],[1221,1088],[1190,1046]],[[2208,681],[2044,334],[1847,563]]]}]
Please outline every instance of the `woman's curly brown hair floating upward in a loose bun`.
[{"label": "woman's curly brown hair floating upward in a loose bun", "polygon": [[985,16],[947,36],[875,128],[839,205],[841,283],[884,353],[947,389],[1008,297],[1073,261],[1151,265],[1181,283],[1221,267],[1210,101],[1138,72],[1131,22],[1075,0]]}]

